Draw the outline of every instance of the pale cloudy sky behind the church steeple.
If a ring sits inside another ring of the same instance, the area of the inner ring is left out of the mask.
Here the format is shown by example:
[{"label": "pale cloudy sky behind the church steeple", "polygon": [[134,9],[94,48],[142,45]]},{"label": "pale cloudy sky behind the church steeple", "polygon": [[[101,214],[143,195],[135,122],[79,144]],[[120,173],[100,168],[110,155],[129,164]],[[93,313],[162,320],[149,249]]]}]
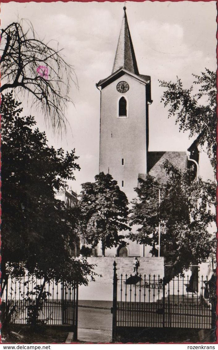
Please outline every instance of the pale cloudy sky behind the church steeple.
[{"label": "pale cloudy sky behind the church steeple", "polygon": [[[58,137],[45,124],[43,115],[35,115],[41,131],[45,130],[50,145],[70,151],[75,147],[80,156],[80,172],[70,182],[80,192],[81,183],[94,181],[98,173],[100,92],[95,84],[108,77],[113,68],[120,33],[122,2],[1,3],[1,27],[13,21],[28,19],[44,42],[63,48],[67,63],[74,66],[79,89],[72,86],[74,104],[69,105],[66,134]],[[186,151],[195,138],[179,133],[173,118],[161,103],[163,90],[158,79],[182,79],[185,87],[193,82],[192,73],[204,68],[217,69],[216,60],[216,1],[210,2],[126,2],[127,17],[140,74],[151,76],[149,106],[149,150]],[[209,162],[203,156],[200,174],[211,176]]]}]

